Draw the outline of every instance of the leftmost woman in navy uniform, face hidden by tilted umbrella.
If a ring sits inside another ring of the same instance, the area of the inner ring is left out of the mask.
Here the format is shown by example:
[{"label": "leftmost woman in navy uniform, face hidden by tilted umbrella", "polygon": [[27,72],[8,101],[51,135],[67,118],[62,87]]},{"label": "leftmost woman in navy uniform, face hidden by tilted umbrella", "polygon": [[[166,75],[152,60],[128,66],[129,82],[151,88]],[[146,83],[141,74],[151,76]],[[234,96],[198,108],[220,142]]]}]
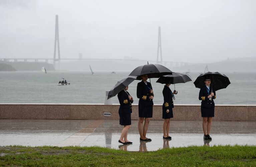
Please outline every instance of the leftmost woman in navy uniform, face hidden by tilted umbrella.
[{"label": "leftmost woman in navy uniform, face hidden by tilted umbrella", "polygon": [[118,110],[119,113],[119,124],[123,125],[123,130],[118,140],[122,144],[132,144],[133,142],[127,140],[128,130],[131,127],[131,113],[132,113],[132,103],[133,97],[127,92],[128,86],[126,86],[121,92],[118,93],[117,97],[120,103]]}]

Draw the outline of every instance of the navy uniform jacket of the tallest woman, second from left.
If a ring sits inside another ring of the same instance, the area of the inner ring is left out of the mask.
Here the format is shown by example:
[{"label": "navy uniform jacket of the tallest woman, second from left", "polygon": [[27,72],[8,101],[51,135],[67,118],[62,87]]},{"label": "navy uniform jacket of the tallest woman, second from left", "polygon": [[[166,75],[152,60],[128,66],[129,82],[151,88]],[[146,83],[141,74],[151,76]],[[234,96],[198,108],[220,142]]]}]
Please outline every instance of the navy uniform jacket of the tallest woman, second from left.
[{"label": "navy uniform jacket of the tallest woman, second from left", "polygon": [[150,93],[150,90],[152,89],[151,83],[147,82],[147,85],[142,80],[137,85],[137,98],[139,98],[139,105],[142,106],[153,106],[153,100],[149,99],[150,96],[154,96],[154,94]]}]

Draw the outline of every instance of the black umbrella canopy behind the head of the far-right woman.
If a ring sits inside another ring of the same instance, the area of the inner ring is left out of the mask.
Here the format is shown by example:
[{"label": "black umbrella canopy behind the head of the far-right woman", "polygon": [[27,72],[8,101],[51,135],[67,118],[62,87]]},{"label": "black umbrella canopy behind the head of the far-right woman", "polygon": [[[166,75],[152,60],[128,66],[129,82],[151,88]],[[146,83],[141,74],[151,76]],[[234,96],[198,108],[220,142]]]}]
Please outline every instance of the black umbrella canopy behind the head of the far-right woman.
[{"label": "black umbrella canopy behind the head of the far-right woman", "polygon": [[205,79],[211,79],[211,85],[215,88],[215,91],[226,88],[230,81],[228,77],[219,72],[206,72],[204,74],[200,74],[195,80],[194,84],[196,88],[201,88],[205,85]]}]

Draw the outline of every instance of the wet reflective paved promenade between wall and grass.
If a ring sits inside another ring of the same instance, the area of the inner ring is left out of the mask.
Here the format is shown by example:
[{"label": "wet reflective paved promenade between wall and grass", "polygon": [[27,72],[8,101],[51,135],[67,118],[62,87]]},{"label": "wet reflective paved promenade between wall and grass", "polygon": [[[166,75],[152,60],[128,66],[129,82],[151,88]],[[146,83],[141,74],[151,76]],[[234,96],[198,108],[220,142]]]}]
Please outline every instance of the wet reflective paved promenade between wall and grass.
[{"label": "wet reflective paved promenade between wall and grass", "polygon": [[128,151],[155,151],[189,145],[256,145],[256,122],[213,121],[211,141],[203,140],[201,121],[171,121],[172,140],[163,139],[163,121],[151,120],[147,137],[140,141],[138,121],[132,120],[128,139],[118,143],[119,120],[0,120],[0,146],[101,146]]}]

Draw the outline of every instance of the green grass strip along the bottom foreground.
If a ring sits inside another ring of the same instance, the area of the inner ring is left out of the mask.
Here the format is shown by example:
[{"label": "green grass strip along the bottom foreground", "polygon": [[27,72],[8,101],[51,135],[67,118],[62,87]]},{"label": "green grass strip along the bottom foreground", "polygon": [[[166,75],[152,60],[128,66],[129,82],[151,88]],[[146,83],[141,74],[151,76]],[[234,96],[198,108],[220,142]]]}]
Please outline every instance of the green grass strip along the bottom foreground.
[{"label": "green grass strip along the bottom foreground", "polygon": [[190,146],[152,152],[102,147],[0,147],[0,166],[256,166],[256,146]]}]

